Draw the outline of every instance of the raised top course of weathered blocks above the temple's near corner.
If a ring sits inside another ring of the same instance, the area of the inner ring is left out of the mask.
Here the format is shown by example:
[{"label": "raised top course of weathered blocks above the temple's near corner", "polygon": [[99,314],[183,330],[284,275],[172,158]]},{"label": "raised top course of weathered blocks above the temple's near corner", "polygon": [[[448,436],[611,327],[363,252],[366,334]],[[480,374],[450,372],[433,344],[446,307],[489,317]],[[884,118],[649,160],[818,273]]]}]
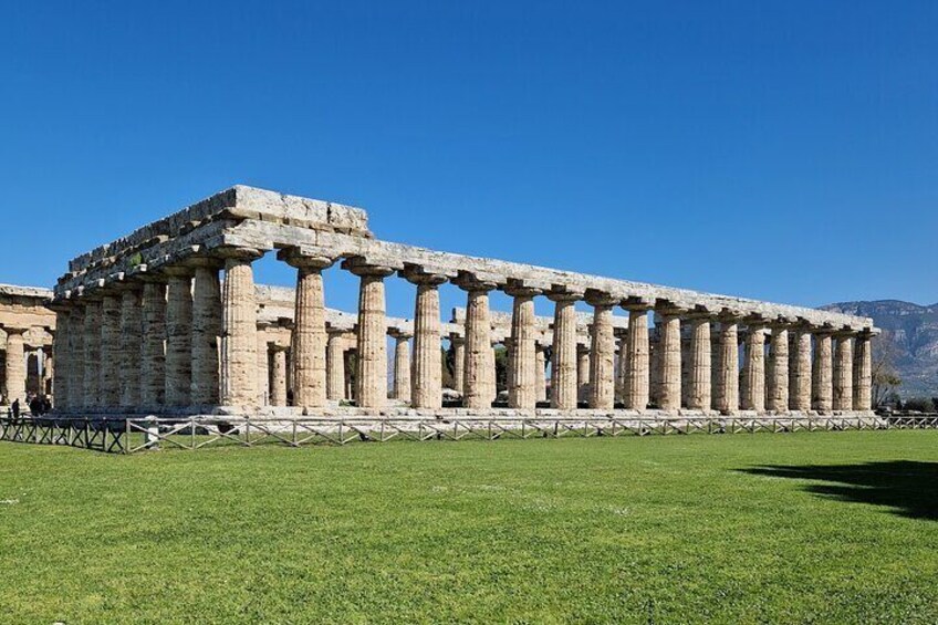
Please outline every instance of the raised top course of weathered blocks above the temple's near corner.
[{"label": "raised top course of weathered blocks above the temple's near corner", "polygon": [[368,215],[364,209],[337,202],[291,196],[236,185],[197,201],[168,217],[138,228],[110,243],[105,243],[69,261],[69,271],[76,273],[110,258],[133,254],[154,243],[178,237],[192,229],[230,219],[257,219],[275,223],[290,223],[300,228],[354,232],[369,237]]}]

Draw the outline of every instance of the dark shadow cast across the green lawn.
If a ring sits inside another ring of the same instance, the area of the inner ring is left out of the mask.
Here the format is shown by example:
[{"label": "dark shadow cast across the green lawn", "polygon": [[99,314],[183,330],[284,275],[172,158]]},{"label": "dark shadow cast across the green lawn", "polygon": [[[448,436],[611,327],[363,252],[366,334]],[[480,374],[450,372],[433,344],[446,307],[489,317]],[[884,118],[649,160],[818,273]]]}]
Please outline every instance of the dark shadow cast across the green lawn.
[{"label": "dark shadow cast across the green lawn", "polygon": [[742,472],[816,482],[804,490],[841,501],[893,508],[896,514],[938,521],[938,462],[892,460],[861,465],[768,465]]}]

